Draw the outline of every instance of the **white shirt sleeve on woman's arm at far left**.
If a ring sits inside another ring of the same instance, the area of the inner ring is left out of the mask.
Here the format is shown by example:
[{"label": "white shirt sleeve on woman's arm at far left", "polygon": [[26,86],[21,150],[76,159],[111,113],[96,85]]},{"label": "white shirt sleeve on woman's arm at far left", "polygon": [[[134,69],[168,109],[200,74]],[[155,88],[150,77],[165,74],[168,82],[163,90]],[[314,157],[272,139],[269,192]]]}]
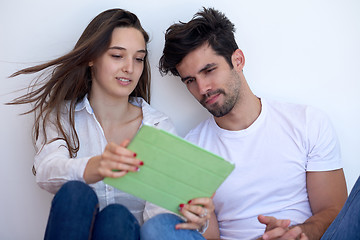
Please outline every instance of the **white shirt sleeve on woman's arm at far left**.
[{"label": "white shirt sleeve on woman's arm at far left", "polygon": [[44,144],[45,139],[41,132],[35,143],[37,153],[34,167],[37,184],[50,193],[56,193],[69,180],[84,182],[83,174],[90,157],[70,158],[64,140],[49,143],[49,140],[59,136],[54,124],[50,123],[46,127],[46,134],[48,143]]}]

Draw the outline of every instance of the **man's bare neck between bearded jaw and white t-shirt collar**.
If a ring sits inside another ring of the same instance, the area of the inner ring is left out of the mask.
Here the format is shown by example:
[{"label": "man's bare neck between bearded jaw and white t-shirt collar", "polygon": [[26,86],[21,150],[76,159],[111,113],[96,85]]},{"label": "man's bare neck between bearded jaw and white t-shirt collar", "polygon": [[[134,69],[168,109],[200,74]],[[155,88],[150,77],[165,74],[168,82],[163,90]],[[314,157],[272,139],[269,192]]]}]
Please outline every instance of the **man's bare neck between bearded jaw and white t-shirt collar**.
[{"label": "man's bare neck between bearded jaw and white t-shirt collar", "polygon": [[259,117],[261,101],[254,94],[242,97],[230,113],[223,117],[214,117],[216,124],[226,130],[240,131],[248,128]]}]

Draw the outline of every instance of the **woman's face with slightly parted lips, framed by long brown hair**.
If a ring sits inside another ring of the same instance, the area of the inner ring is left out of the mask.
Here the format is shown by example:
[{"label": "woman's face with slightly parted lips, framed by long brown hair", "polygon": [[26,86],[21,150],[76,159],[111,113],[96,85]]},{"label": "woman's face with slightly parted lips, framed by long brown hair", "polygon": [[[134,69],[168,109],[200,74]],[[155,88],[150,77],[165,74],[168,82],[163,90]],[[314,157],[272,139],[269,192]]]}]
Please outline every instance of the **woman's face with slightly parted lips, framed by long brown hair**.
[{"label": "woman's face with slightly parted lips, framed by long brown hair", "polygon": [[142,33],[132,27],[115,28],[109,48],[91,61],[91,95],[128,98],[144,69],[146,44]]}]

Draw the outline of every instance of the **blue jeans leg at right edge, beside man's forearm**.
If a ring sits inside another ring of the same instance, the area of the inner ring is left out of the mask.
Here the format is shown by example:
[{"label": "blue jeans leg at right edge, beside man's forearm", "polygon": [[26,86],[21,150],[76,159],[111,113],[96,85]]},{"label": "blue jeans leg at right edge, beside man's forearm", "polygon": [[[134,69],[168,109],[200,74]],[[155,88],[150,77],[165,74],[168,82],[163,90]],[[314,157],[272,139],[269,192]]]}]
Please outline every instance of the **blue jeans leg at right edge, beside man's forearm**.
[{"label": "blue jeans leg at right edge, beside man's forearm", "polygon": [[321,240],[360,239],[360,177],[352,188],[344,207]]}]

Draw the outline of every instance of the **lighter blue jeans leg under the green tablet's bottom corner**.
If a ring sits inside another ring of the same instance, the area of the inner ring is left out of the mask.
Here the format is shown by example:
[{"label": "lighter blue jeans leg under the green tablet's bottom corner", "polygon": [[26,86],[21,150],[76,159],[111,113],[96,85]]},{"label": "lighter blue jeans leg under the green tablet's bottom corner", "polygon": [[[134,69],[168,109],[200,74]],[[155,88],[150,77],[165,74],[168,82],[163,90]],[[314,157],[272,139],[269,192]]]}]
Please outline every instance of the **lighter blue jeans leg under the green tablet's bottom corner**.
[{"label": "lighter blue jeans leg under the green tablet's bottom corner", "polygon": [[184,222],[179,216],[164,213],[152,217],[140,229],[141,240],[204,240],[196,230],[175,229],[175,225]]}]

